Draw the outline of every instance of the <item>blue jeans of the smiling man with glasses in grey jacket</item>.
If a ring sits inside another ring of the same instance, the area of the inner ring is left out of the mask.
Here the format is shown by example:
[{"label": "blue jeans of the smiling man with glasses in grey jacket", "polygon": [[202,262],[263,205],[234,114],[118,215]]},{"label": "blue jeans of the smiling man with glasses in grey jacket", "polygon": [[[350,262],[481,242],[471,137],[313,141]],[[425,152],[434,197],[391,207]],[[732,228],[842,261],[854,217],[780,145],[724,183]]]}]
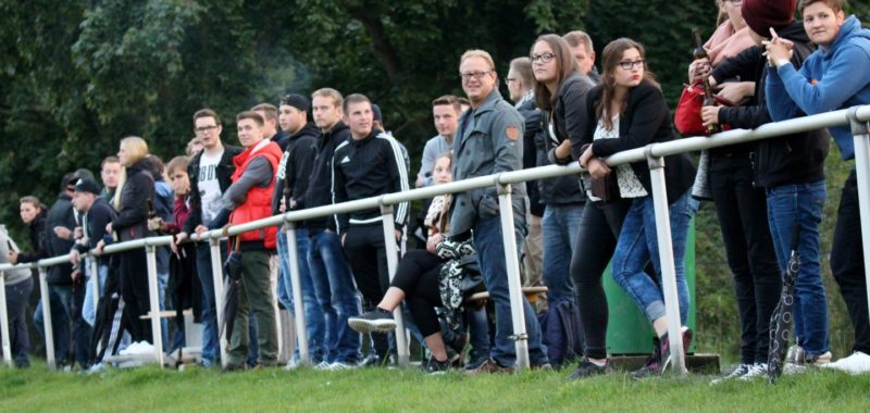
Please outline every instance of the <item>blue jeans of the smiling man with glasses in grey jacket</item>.
[{"label": "blue jeans of the smiling man with glasses in grey jacket", "polygon": [[[508,289],[508,271],[505,263],[505,243],[501,238],[501,222],[498,216],[477,218],[473,228],[474,248],[477,250],[477,262],[489,298],[496,308],[496,339],[490,348],[489,355],[501,366],[513,366],[517,362],[517,349],[510,336],[513,334],[511,317],[510,296]],[[517,256],[519,258],[522,246],[522,228],[513,228],[517,238]],[[535,311],[529,301],[523,300],[525,316],[525,333],[529,336],[529,361],[532,365],[548,363],[547,351],[540,342],[540,325],[535,317]]]}]

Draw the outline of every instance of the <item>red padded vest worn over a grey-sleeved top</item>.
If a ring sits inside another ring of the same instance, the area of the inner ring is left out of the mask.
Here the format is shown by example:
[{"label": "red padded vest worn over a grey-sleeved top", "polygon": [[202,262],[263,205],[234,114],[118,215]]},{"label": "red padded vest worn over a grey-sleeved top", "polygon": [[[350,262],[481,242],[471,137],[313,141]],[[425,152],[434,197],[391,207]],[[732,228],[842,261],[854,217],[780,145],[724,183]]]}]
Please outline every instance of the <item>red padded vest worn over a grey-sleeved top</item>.
[{"label": "red padded vest worn over a grey-sleeved top", "polygon": [[[269,163],[272,164],[272,179],[265,188],[254,186],[248,190],[248,197],[245,199],[245,202],[236,206],[229,215],[229,223],[233,225],[245,224],[272,216],[272,193],[275,191],[275,171],[277,171],[282,152],[281,147],[275,142],[269,142],[257,152],[253,152],[253,149],[258,146],[259,143],[247,148],[244,152],[233,158],[233,166],[236,167],[236,172],[234,172],[232,176],[233,183],[237,182],[241,175],[245,174],[251,161],[260,157],[265,158]],[[275,248],[277,233],[277,226],[270,226],[241,233],[239,237],[241,237],[240,239],[243,242],[263,241],[265,248],[273,249]]]}]

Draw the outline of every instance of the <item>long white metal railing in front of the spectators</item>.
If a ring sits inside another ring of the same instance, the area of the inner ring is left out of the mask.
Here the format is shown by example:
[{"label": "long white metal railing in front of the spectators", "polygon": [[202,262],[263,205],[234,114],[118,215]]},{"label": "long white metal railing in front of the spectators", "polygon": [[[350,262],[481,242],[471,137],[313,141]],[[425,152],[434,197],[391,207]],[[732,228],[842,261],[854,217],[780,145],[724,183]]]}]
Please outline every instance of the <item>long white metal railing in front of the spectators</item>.
[{"label": "long white metal railing in front of the spectators", "polygon": [[[680,311],[676,296],[676,281],[675,271],[673,263],[670,220],[668,213],[667,191],[664,184],[664,157],[698,151],[703,149],[718,148],[734,143],[754,141],[759,139],[767,139],[776,136],[807,132],[812,129],[850,125],[854,141],[855,141],[855,164],[858,177],[858,198],[860,203],[860,220],[861,223],[870,223],[870,105],[855,107],[846,110],[833,111],[812,116],[799,117],[778,123],[770,123],[762,125],[756,129],[734,129],[717,134],[712,137],[692,137],[678,139],[669,142],[651,143],[643,148],[636,148],[623,152],[616,153],[607,159],[608,164],[619,165],[631,162],[638,162],[646,160],[649,164],[651,192],[654,198],[654,208],[656,215],[656,227],[658,228],[658,243],[659,243],[659,258],[661,261],[662,272],[662,290],[664,296],[664,304],[668,320],[668,337],[671,346],[671,354],[673,359],[673,367],[679,374],[685,374],[685,360],[683,356],[683,342],[681,339],[680,328]],[[259,229],[268,226],[285,225],[287,235],[287,249],[290,260],[290,277],[293,284],[293,299],[294,312],[296,316],[296,333],[297,342],[299,348],[299,355],[302,363],[311,362],[308,339],[304,323],[304,311],[302,305],[301,284],[299,280],[298,260],[300,259],[296,250],[296,228],[295,223],[303,220],[311,220],[315,217],[330,216],[339,213],[350,213],[353,211],[381,208],[384,215],[384,238],[387,240],[387,256],[393,259],[388,260],[390,278],[396,273],[398,256],[397,246],[394,240],[394,223],[393,223],[393,205],[399,202],[407,202],[413,200],[422,200],[432,198],[437,195],[464,192],[472,189],[495,186],[498,189],[500,221],[502,229],[502,241],[505,245],[505,259],[507,263],[507,276],[509,285],[510,305],[512,312],[512,326],[513,335],[515,337],[517,349],[517,367],[529,367],[529,348],[526,342],[526,330],[524,324],[524,314],[522,305],[522,290],[520,281],[520,270],[517,256],[517,246],[513,235],[513,213],[511,203],[511,185],[524,183],[527,180],[538,180],[544,178],[551,178],[562,175],[577,174],[582,168],[576,162],[567,166],[539,166],[530,170],[505,172],[500,174],[481,176],[470,179],[463,179],[450,184],[438,186],[431,186],[425,188],[412,189],[405,192],[387,193],[378,197],[348,201],[340,204],[318,206],[301,211],[291,211],[285,214],[271,216],[268,218],[259,220],[251,223],[232,226],[227,234],[222,230],[211,230],[202,234],[191,235],[191,239],[197,241],[208,241],[211,246],[211,260],[212,271],[214,276],[215,297],[223,296],[223,273],[220,254],[220,238],[223,236],[235,236],[248,230]],[[863,255],[870,256],[870,230],[863,230]],[[148,256],[148,285],[150,295],[150,304],[152,314],[157,314],[158,305],[158,291],[157,291],[157,266],[154,261],[154,248],[159,246],[166,246],[171,242],[171,237],[151,237],[139,240],[126,241],[105,247],[105,254],[119,251],[126,251],[136,248],[145,248]],[[12,266],[11,264],[0,264],[0,281],[3,278],[3,272],[11,268],[39,268],[39,283],[41,288],[42,313],[45,315],[45,330],[46,330],[46,348],[47,359],[50,368],[54,367],[53,342],[51,338],[51,311],[48,299],[48,285],[46,283],[46,267],[57,264],[66,263],[69,255],[54,256],[50,259],[40,260],[37,263],[21,264]],[[90,265],[96,265],[91,260]],[[868,277],[867,284],[870,285],[870,260],[865,260],[865,272]],[[91,274],[96,274],[92,272]],[[94,281],[98,277],[92,277]],[[2,284],[2,283],[0,283]],[[870,289],[868,289],[868,298],[870,298]],[[216,305],[219,323],[223,320],[222,308]],[[0,328],[2,328],[2,346],[5,363],[11,365],[11,351],[9,345],[9,325],[5,311],[5,293],[4,289],[0,288]],[[406,331],[403,328],[401,311],[396,310],[394,315],[397,321],[396,337],[399,363],[408,363],[408,345],[405,339]],[[151,328],[154,337],[154,356],[158,362],[163,364],[163,349],[161,337],[161,325],[158,316],[152,316]],[[222,360],[226,363],[226,337],[221,338],[221,354]]]}]

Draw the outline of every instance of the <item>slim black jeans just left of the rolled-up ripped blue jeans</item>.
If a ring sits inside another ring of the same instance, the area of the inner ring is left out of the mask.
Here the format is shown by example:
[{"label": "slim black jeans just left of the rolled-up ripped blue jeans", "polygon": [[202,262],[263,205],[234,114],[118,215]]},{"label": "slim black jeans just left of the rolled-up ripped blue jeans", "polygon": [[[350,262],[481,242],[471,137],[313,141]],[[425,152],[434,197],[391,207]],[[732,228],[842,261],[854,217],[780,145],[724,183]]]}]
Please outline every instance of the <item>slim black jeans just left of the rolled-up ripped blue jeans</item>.
[{"label": "slim black jeans just left of the rolled-up ripped blue jeans", "polygon": [[585,354],[592,359],[607,358],[607,296],[601,275],[613,256],[622,222],[632,205],[631,199],[610,203],[587,202],[576,231],[571,254],[571,279],[583,321],[586,338]]}]

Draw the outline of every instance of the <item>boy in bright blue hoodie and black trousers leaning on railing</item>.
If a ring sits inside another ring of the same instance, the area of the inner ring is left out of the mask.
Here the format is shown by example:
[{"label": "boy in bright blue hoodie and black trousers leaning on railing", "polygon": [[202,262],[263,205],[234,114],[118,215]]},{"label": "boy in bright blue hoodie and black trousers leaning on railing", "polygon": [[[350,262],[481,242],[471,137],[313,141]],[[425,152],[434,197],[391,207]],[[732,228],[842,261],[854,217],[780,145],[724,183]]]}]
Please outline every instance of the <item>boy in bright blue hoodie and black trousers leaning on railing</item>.
[{"label": "boy in bright blue hoodie and black trousers leaning on railing", "polygon": [[[775,36],[768,45],[768,109],[775,121],[870,103],[870,30],[854,15],[845,16],[844,0],[804,0],[799,12],[810,40],[819,46],[796,68],[791,45]],[[855,158],[848,126],[830,128],[844,161]],[[853,327],[853,354],[829,367],[852,374],[870,372],[870,322],[867,309],[861,222],[856,171],[846,179],[831,246],[831,271],[840,285]]]}]

